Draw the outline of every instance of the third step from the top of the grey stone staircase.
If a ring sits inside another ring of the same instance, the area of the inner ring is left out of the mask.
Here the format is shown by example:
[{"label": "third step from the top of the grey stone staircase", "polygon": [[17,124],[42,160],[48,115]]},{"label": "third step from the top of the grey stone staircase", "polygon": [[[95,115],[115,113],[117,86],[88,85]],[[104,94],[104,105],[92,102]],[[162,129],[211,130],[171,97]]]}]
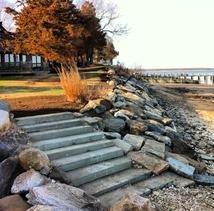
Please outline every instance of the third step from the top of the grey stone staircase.
[{"label": "third step from the top of the grey stone staircase", "polygon": [[63,128],[59,130],[48,130],[48,131],[30,133],[29,135],[33,139],[33,141],[41,141],[41,140],[48,140],[48,139],[90,133],[93,131],[94,129],[91,126],[76,126],[71,128]]}]

